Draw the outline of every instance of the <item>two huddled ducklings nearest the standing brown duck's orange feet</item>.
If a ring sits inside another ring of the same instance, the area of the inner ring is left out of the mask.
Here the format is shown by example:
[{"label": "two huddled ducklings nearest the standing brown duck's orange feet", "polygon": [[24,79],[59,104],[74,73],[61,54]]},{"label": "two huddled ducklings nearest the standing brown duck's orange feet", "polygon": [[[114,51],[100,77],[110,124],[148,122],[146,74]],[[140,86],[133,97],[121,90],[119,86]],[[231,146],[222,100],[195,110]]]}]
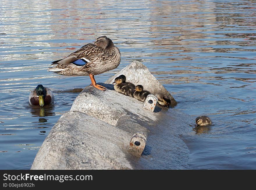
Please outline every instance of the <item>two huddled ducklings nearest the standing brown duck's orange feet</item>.
[{"label": "two huddled ducklings nearest the standing brown duck's orange feet", "polygon": [[116,77],[115,82],[112,84],[115,84],[114,88],[118,93],[133,97],[135,85],[130,82],[126,82],[125,75]]}]

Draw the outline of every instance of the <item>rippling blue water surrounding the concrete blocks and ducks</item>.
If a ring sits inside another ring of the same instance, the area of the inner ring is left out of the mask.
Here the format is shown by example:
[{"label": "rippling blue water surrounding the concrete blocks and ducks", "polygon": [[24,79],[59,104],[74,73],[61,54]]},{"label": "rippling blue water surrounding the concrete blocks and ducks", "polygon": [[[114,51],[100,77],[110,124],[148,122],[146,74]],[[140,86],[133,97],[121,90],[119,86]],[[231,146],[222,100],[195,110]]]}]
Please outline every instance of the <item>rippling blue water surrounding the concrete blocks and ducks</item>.
[{"label": "rippling blue water surrounding the concrete blocks and ducks", "polygon": [[[189,169],[256,169],[254,0],[2,0],[0,9],[0,169],[30,169],[79,94],[70,90],[90,84],[48,72],[51,61],[103,35],[120,49],[121,64],[97,82],[141,61],[176,109],[213,121],[182,136]],[[51,88],[54,105],[29,105],[38,84]]]}]

